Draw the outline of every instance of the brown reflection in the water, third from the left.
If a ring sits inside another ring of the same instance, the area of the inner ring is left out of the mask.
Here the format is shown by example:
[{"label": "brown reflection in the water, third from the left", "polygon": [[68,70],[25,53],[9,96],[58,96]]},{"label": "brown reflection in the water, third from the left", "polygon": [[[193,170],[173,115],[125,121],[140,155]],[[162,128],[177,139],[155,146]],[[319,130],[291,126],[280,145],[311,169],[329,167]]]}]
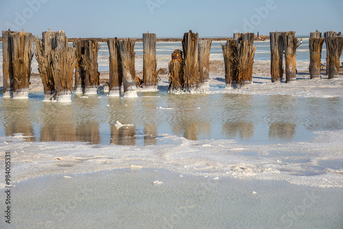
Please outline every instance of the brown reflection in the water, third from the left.
[{"label": "brown reflection in the water, third from the left", "polygon": [[91,144],[100,143],[99,124],[94,121],[86,121],[76,125],[76,140],[85,141]]}]

